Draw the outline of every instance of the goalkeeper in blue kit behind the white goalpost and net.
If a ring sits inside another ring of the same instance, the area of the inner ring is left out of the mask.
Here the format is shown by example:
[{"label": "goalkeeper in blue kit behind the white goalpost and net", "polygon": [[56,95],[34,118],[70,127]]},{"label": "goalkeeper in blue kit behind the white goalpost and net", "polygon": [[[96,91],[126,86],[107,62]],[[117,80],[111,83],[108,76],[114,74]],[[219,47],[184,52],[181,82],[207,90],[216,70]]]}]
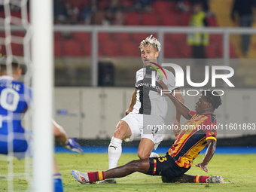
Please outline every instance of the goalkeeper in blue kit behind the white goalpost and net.
[{"label": "goalkeeper in blue kit behind the white goalpost and net", "polygon": [[[0,58],[0,154],[13,154],[22,159],[32,156],[32,133],[21,125],[23,116],[32,102],[32,90],[17,81],[22,74],[17,58],[12,57],[11,75],[8,73],[7,56]],[[70,151],[82,152],[75,139],[68,139],[65,130],[53,121],[55,139]],[[54,160],[55,192],[62,192],[62,178]]]}]

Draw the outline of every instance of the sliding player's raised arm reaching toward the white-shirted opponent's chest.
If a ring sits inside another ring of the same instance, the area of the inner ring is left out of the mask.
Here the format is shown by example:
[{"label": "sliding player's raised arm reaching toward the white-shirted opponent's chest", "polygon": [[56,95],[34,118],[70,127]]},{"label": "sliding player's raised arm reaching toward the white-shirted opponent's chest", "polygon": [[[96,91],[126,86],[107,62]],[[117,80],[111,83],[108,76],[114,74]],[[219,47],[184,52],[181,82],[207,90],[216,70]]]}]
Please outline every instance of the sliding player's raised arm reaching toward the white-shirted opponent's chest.
[{"label": "sliding player's raised arm reaching toward the white-shirted opponent's chest", "polygon": [[[158,81],[158,83],[163,87],[163,90],[168,90],[168,87],[166,84],[163,83],[162,80]],[[158,90],[160,92],[160,90]],[[175,96],[172,95],[172,93],[163,93],[164,95],[168,96],[169,99],[172,100],[173,104],[175,105],[175,108],[178,110],[178,112],[187,120],[190,119],[190,116],[188,115],[188,112],[190,111],[189,108],[187,108],[186,105],[184,105],[180,100],[176,98],[176,96],[181,94],[176,94],[177,90],[175,90]]]}]

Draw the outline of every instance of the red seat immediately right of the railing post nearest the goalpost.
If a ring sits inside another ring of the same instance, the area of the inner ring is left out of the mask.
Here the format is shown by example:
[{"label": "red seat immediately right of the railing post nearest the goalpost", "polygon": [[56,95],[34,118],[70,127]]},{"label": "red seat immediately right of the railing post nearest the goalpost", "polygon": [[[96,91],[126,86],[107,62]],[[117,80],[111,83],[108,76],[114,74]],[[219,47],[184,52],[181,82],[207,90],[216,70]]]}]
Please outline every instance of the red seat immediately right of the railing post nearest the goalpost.
[{"label": "red seat immediately right of the railing post nearest the goalpost", "polygon": [[101,44],[102,47],[102,54],[104,56],[119,56],[119,44],[117,41],[104,41],[104,43]]}]

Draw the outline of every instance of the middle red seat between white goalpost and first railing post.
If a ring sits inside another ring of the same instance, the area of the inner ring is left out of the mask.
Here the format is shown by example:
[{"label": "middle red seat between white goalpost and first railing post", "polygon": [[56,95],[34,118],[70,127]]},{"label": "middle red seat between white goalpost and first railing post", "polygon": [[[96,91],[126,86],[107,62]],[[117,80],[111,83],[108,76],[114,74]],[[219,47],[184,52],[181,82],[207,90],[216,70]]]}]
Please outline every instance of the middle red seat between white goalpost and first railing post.
[{"label": "middle red seat between white goalpost and first railing post", "polygon": [[82,56],[81,44],[75,40],[64,41],[65,56]]}]

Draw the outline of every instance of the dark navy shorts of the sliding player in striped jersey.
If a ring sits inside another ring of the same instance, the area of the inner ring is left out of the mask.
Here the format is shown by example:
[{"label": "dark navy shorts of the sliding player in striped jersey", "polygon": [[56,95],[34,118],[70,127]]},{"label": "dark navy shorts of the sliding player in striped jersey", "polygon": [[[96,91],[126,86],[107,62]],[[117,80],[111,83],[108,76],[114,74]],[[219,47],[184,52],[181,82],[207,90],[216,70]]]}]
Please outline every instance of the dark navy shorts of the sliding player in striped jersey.
[{"label": "dark navy shorts of the sliding player in striped jersey", "polygon": [[147,172],[148,175],[163,175],[168,179],[174,179],[190,169],[190,167],[184,168],[178,166],[169,155],[164,157],[150,157],[148,160],[150,164]]}]

